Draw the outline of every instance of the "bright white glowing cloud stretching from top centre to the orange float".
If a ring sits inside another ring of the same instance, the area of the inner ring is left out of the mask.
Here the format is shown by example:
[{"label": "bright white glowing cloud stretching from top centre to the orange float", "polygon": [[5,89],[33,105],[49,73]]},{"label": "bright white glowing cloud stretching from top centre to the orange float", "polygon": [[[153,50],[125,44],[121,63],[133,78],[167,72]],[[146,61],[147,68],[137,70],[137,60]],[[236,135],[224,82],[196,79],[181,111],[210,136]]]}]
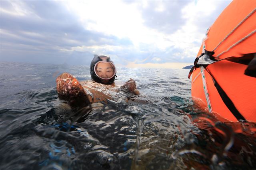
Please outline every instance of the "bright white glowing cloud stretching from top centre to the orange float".
[{"label": "bright white glowing cloud stretching from top centre to the orange float", "polygon": [[[140,43],[148,44],[153,47],[148,49],[151,52],[166,51],[166,49],[173,46],[177,49],[183,49],[180,57],[194,58],[200,47],[198,44],[202,42],[204,37],[204,32],[199,31],[196,21],[211,16],[220,4],[220,1],[214,0],[199,0],[197,3],[191,1],[181,9],[185,24],[180,26],[176,32],[169,34],[143,25],[142,12],[138,10],[138,6],[148,8],[147,1],[128,4],[116,0],[111,2],[69,1],[66,5],[80,17],[84,27],[88,30],[102,32],[118,38],[129,38],[136,49],[140,47]],[[210,8],[206,8],[206,6],[210,6]],[[164,1],[157,3],[154,10],[166,12]],[[145,50],[138,51],[145,52]]]}]

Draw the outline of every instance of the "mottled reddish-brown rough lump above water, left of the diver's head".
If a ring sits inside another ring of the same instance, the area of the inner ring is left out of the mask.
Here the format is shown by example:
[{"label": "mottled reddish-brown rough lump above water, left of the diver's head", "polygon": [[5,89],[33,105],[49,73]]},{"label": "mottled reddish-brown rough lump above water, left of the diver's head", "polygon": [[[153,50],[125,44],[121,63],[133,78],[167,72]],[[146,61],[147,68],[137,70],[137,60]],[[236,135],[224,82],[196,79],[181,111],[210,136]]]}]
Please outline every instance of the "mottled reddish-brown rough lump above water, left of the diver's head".
[{"label": "mottled reddish-brown rough lump above water, left of the diver's head", "polygon": [[56,79],[60,99],[70,102],[71,107],[84,107],[90,103],[80,82],[69,73],[62,73]]}]

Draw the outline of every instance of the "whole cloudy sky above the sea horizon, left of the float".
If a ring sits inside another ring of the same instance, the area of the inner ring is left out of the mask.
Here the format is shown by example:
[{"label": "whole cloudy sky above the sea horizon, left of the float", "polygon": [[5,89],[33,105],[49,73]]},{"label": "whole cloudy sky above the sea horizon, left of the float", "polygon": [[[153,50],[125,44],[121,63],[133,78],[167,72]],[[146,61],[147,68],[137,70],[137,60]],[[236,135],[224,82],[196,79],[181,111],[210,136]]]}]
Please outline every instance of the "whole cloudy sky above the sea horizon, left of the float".
[{"label": "whole cloudy sky above the sea horizon, left of the float", "polygon": [[190,65],[230,0],[0,0],[0,61]]}]

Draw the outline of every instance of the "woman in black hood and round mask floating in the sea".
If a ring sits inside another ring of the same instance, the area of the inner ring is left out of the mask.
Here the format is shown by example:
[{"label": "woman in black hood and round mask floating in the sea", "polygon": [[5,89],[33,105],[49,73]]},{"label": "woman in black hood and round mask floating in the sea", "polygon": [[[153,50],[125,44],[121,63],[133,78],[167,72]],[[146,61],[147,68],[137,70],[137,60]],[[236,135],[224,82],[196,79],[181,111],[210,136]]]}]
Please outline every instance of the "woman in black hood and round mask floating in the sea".
[{"label": "woman in black hood and round mask floating in the sea", "polygon": [[90,65],[92,81],[79,82],[69,73],[63,73],[56,79],[60,99],[69,101],[72,107],[84,107],[90,103],[106,102],[113,99],[120,90],[139,95],[133,79],[123,86],[116,86],[116,67],[107,55],[94,55]]}]

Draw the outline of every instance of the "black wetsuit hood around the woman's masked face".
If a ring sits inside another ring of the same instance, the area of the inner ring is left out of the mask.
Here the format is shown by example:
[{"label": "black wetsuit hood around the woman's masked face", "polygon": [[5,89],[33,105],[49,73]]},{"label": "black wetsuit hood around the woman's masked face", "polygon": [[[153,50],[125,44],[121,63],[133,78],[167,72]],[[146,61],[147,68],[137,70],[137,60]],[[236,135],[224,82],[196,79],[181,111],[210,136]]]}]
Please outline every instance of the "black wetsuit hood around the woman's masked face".
[{"label": "black wetsuit hood around the woman's masked face", "polygon": [[110,60],[110,57],[108,55],[94,55],[94,58],[92,59],[92,62],[90,65],[90,73],[91,73],[92,80],[96,81],[97,83],[112,84],[116,78],[116,69],[114,69],[115,70],[114,76],[108,81],[108,83],[103,83],[102,79],[100,79],[100,77],[98,77],[94,71],[94,67],[99,61],[110,62],[115,67],[113,61]]}]

